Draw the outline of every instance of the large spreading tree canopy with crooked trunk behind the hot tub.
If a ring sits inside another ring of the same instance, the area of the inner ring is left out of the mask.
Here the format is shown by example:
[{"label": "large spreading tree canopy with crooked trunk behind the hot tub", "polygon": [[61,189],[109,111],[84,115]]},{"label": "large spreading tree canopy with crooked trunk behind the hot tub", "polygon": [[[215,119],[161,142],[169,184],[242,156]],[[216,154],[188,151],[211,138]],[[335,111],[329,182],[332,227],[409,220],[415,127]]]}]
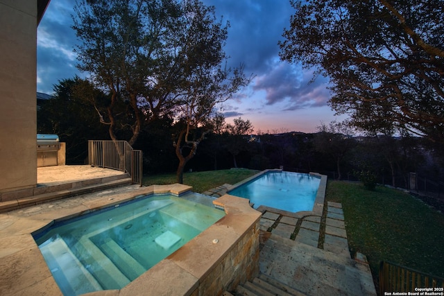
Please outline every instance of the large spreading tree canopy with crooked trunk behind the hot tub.
[{"label": "large spreading tree canopy with crooked trunk behind the hot tub", "polygon": [[[198,0],[83,0],[75,11],[74,29],[83,42],[76,49],[78,68],[110,95],[105,110],[96,107],[110,137],[117,139],[125,120],[132,145],[144,123],[176,119],[182,182],[185,164],[211,130],[216,104],[249,82],[243,67],[225,67],[228,24]],[[125,113],[117,112],[119,103],[128,106]]]}]

